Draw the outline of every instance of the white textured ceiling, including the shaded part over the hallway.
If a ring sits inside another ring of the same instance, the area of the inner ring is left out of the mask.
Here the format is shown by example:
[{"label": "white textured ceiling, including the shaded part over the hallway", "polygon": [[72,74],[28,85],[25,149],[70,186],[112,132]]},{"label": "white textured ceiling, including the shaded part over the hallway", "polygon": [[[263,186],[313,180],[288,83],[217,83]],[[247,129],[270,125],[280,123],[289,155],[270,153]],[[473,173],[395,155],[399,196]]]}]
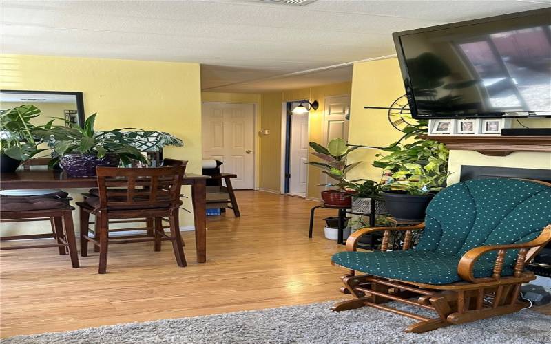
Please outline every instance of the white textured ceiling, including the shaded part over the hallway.
[{"label": "white textured ceiling, including the shaded part over the hallway", "polygon": [[3,53],[198,62],[207,91],[259,92],[350,80],[346,64],[395,54],[392,32],[548,7],[551,0],[0,4]]}]

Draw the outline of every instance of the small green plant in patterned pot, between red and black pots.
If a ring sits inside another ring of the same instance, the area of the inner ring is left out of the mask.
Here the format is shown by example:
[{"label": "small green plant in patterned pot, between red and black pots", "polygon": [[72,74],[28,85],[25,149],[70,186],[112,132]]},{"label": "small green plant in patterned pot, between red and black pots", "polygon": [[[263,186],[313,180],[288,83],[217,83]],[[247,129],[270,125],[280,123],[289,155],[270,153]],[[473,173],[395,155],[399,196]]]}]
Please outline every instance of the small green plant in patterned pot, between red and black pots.
[{"label": "small green plant in patterned pot, between red and black pots", "polygon": [[375,214],[385,213],[380,184],[373,180],[353,180],[347,187],[355,191],[352,195],[353,213],[371,214],[372,206],[375,206]]}]

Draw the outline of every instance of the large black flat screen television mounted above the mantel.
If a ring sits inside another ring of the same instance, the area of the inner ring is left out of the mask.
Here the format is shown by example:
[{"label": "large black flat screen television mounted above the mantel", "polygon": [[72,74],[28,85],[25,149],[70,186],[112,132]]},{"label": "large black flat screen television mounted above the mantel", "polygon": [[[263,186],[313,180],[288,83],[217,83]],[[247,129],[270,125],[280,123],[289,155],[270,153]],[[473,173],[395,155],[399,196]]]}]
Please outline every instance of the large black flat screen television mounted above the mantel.
[{"label": "large black flat screen television mounted above the mantel", "polygon": [[414,118],[551,116],[551,8],[393,38]]}]

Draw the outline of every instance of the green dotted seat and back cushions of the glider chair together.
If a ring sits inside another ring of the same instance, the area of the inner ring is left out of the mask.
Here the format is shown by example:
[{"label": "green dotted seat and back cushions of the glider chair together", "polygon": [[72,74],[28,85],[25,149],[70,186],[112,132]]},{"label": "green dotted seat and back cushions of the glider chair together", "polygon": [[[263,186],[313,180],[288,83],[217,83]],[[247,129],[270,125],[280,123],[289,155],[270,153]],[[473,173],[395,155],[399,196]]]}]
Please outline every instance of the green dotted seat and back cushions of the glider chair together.
[{"label": "green dotted seat and back cushions of the glider chair together", "polygon": [[[415,250],[340,252],[340,266],[380,277],[443,284],[459,281],[457,263],[468,250],[535,239],[551,224],[551,188],[509,178],[469,180],[449,186],[428,205]],[[489,277],[496,252],[481,257],[475,277]],[[517,252],[507,252],[501,275],[512,274]]]}]

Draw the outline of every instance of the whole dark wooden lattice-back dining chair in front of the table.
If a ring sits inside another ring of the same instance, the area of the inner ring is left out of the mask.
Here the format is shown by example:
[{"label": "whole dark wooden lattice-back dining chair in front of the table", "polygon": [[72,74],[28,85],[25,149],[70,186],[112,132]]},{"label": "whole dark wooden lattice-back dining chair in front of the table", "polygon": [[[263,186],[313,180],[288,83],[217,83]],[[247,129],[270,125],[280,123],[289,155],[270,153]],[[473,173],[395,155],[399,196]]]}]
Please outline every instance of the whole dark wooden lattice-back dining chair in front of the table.
[{"label": "whole dark wooden lattice-back dining chair in front of the table", "polygon": [[[155,246],[160,246],[161,241],[169,240],[172,242],[178,266],[186,266],[178,221],[184,171],[184,166],[152,169],[98,167],[98,197],[90,195],[84,202],[76,202],[81,210],[81,255],[87,256],[88,241],[99,247],[98,272],[104,274],[107,272],[109,244],[154,241]],[[90,214],[96,215],[94,237],[89,236]],[[146,218],[159,222],[163,217],[169,219],[170,235],[161,226],[153,228],[153,236],[146,233],[110,240],[110,220]]]}]

